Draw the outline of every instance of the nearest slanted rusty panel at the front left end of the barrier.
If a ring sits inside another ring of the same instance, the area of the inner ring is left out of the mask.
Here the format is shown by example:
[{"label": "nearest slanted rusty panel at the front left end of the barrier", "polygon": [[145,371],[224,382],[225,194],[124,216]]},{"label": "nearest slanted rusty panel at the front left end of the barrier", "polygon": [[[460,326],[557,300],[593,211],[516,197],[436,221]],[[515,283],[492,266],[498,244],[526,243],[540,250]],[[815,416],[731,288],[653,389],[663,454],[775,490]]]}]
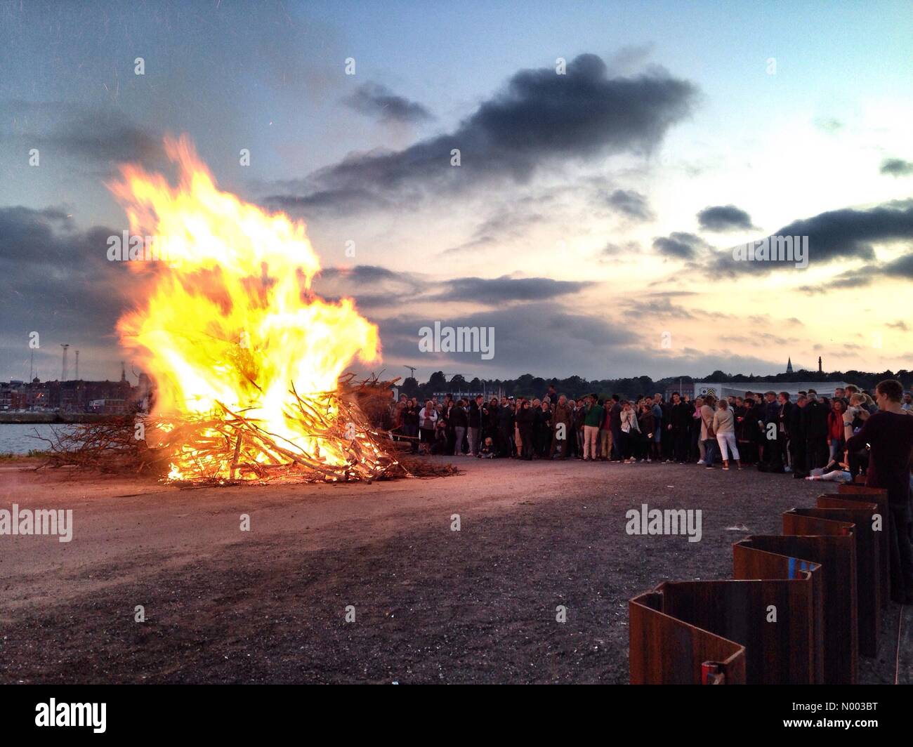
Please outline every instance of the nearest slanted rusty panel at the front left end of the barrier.
[{"label": "nearest slanted rusty panel at the front left end of the barrier", "polygon": [[745,684],[745,648],[666,615],[665,586],[628,603],[631,684]]}]

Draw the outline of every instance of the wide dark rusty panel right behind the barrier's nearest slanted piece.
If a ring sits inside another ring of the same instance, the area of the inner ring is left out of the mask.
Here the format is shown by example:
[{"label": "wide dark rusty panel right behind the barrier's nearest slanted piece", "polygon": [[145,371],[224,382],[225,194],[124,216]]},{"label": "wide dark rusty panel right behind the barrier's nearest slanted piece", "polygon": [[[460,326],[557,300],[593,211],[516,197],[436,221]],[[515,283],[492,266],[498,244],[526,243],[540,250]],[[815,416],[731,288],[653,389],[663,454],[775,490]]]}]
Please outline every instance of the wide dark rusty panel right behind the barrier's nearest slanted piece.
[{"label": "wide dark rusty panel right behind the barrier's nearest slanted piece", "polygon": [[[656,602],[664,615],[743,646],[749,684],[808,684],[813,681],[812,584],[811,573],[795,581],[667,582],[657,587]],[[769,605],[776,607],[779,622],[768,621]],[[804,660],[776,655],[790,632],[803,639]]]}]

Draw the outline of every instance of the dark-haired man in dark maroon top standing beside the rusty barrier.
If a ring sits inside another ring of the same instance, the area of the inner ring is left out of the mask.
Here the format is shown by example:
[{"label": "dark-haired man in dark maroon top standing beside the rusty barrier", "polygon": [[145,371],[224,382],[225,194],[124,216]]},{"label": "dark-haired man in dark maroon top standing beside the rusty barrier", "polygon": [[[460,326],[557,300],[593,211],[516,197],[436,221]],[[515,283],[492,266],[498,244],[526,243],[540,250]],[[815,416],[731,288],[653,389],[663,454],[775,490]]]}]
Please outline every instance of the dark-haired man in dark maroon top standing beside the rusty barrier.
[{"label": "dark-haired man in dark maroon top standing beside the rusty barrier", "polygon": [[875,388],[878,412],[846,442],[848,451],[869,449],[866,485],[887,489],[891,599],[913,604],[913,548],[910,547],[910,452],[913,416],[903,410],[903,385],[886,379]]}]

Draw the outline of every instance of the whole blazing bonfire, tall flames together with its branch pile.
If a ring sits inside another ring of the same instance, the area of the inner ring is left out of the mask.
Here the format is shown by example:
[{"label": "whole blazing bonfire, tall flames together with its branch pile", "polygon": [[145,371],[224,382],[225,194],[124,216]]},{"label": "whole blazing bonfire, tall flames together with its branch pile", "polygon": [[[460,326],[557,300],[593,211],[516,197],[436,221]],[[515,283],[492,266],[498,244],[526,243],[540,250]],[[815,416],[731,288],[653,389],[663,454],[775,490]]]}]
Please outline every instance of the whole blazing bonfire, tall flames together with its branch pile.
[{"label": "whole blazing bonfire, tall flames together with its branch pile", "polygon": [[137,165],[109,184],[130,219],[129,258],[141,260],[125,263],[137,302],[117,329],[156,384],[152,414],[80,426],[51,444],[51,464],[191,485],[453,470],[407,467],[365,415],[391,401],[393,382],[342,372],[380,359],[377,327],[351,299],[311,288],[320,260],[304,224],[218,190],[187,140],[165,151],[176,186]]}]

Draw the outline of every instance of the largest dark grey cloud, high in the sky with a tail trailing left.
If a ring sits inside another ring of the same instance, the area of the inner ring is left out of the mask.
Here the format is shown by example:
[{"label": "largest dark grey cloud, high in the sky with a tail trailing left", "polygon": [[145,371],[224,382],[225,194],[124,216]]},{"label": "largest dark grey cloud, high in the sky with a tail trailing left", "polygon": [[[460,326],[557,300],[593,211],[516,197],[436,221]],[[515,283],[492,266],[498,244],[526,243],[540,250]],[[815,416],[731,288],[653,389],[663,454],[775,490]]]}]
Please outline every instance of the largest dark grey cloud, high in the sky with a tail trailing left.
[{"label": "largest dark grey cloud, high in the sky with a tail trailing left", "polygon": [[[595,55],[573,59],[566,75],[554,68],[520,70],[453,132],[403,151],[353,154],[311,174],[299,196],[356,189],[446,192],[491,179],[526,182],[547,163],[647,153],[687,117],[696,92],[665,71],[610,78]],[[450,165],[454,149],[461,155],[458,167]]]}]

